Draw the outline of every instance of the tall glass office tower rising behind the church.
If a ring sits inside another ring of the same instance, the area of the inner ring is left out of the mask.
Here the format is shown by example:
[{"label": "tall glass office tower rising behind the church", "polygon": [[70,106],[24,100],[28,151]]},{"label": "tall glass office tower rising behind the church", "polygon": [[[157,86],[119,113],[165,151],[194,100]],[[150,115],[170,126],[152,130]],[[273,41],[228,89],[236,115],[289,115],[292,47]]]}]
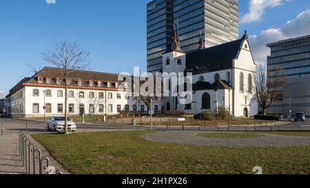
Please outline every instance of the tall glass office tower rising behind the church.
[{"label": "tall glass office tower rising behind the church", "polygon": [[147,4],[147,71],[161,72],[161,57],[178,30],[184,52],[238,39],[238,0],[154,0]]}]

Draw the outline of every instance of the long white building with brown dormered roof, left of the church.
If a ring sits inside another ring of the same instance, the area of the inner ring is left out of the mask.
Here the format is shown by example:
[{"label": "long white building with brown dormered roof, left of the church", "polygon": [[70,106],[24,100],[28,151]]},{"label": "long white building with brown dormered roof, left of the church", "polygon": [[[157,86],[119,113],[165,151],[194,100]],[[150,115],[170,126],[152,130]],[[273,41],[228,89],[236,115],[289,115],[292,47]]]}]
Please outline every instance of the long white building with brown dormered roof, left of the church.
[{"label": "long white building with brown dormered roof, left of the church", "polygon": [[[59,79],[60,70],[44,67],[15,85],[10,94],[9,114],[12,117],[37,117],[63,115],[65,89]],[[58,77],[59,76],[59,77]],[[75,71],[68,90],[68,113],[113,115],[126,111],[147,111],[147,106],[130,92],[118,90],[118,74]],[[153,109],[161,109],[154,101]]]}]

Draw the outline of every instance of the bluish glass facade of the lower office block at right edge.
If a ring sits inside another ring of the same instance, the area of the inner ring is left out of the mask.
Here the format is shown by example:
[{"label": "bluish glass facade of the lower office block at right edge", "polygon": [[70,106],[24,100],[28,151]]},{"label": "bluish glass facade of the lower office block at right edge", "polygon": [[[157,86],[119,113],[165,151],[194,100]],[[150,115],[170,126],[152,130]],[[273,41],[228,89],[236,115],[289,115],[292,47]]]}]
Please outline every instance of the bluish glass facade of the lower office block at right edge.
[{"label": "bluish glass facade of the lower office block at right edge", "polygon": [[289,39],[267,45],[271,56],[267,58],[269,70],[280,68],[287,78],[310,75],[310,36]]}]

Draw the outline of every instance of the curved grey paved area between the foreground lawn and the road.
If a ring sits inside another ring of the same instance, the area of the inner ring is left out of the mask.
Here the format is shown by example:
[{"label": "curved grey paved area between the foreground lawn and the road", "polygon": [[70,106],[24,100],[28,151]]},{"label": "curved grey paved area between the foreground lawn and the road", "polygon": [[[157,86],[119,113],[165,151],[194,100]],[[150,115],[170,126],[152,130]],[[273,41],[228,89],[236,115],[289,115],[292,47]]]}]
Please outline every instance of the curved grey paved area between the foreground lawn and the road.
[{"label": "curved grey paved area between the foreground lawn and the road", "polygon": [[197,136],[200,133],[203,132],[155,132],[145,134],[143,138],[162,143],[218,147],[291,147],[310,145],[310,137],[307,136],[262,134],[263,137],[261,138],[206,138]]}]

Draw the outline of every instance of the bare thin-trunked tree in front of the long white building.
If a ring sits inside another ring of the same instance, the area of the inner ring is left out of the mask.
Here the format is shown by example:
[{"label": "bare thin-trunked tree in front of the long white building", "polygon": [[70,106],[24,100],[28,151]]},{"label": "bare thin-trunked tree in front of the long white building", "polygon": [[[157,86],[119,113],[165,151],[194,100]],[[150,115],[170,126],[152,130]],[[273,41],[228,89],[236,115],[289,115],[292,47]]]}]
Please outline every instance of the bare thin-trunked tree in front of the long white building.
[{"label": "bare thin-trunked tree in front of the long white building", "polygon": [[54,49],[43,52],[42,58],[61,71],[61,85],[65,88],[65,133],[68,133],[68,87],[72,84],[70,78],[76,70],[88,70],[90,52],[81,48],[76,42],[55,42]]}]

